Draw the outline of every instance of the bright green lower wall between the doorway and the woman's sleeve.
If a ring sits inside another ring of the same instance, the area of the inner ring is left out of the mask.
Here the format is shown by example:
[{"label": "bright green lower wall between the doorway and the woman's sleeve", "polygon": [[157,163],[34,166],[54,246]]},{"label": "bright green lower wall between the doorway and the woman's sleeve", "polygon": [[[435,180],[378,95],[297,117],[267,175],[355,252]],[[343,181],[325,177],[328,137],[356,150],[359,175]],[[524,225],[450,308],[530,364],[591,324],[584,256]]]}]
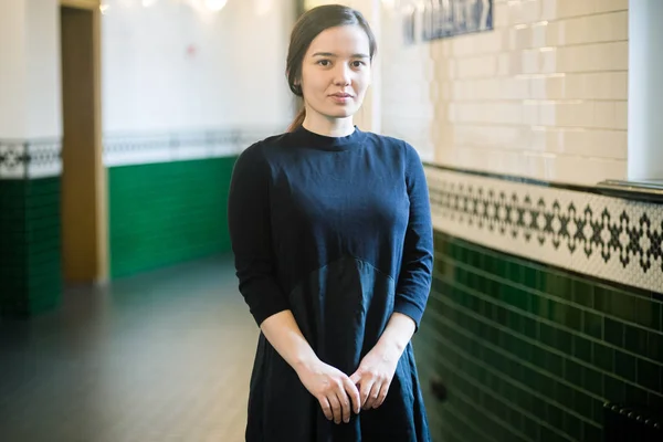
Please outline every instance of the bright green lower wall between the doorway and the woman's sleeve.
[{"label": "bright green lower wall between the doorway and the woman's sleeve", "polygon": [[229,252],[227,201],[235,159],[109,168],[112,277]]}]

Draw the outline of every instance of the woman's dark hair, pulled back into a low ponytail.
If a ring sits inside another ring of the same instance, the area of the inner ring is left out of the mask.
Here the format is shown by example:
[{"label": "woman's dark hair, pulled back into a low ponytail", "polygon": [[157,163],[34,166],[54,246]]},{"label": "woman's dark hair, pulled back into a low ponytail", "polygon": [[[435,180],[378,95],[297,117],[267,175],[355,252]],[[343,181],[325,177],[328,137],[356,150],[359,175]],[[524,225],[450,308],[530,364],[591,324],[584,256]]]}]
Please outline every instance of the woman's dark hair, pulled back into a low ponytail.
[{"label": "woman's dark hair, pulled back into a low ponytail", "polygon": [[[364,29],[368,36],[369,55],[372,61],[373,55],[378,50],[378,44],[368,21],[366,21],[361,12],[343,4],[325,4],[313,8],[299,17],[299,20],[297,20],[291,33],[285,71],[287,84],[293,94],[298,97],[303,96],[302,86],[299,86],[297,82],[301,82],[302,80],[302,64],[311,42],[313,42],[320,32],[329,28],[343,25],[359,25]],[[304,123],[305,117],[306,109],[302,107],[287,130],[295,130]]]}]

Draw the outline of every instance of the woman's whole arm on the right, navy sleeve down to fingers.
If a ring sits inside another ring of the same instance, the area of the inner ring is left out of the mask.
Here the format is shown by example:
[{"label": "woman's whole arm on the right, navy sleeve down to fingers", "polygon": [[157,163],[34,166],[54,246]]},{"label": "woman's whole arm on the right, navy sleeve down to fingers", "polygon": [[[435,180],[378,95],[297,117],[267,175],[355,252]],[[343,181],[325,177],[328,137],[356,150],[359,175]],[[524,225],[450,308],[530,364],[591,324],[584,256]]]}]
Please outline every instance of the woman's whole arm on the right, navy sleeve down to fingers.
[{"label": "woman's whole arm on the right, navy sleeve down to fingers", "polygon": [[359,385],[364,409],[378,408],[385,401],[398,361],[419,328],[432,280],[433,228],[428,183],[419,155],[411,146],[406,148],[410,213],[393,313],[376,346],[350,376]]}]

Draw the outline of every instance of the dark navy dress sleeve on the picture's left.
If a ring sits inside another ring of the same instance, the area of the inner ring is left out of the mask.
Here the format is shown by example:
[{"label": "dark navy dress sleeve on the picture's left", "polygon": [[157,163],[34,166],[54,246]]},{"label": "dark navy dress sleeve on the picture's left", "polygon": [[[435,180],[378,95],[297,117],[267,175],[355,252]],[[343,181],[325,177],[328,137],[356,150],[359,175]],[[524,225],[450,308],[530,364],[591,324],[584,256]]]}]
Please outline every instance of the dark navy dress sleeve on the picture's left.
[{"label": "dark navy dress sleeve on the picture's left", "polygon": [[238,158],[230,182],[228,225],[240,293],[260,326],[288,309],[274,277],[270,225],[270,168],[256,144]]}]

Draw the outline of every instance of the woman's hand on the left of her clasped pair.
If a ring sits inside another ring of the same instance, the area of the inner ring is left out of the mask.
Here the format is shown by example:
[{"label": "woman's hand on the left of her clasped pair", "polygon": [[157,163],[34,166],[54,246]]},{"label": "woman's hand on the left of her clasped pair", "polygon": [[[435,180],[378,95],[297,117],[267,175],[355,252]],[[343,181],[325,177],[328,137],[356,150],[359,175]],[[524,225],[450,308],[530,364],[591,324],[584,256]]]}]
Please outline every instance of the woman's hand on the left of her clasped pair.
[{"label": "woman's hand on the left of her clasped pair", "polygon": [[297,375],[308,392],[318,400],[328,420],[348,423],[351,412],[359,413],[359,390],[343,371],[316,360],[298,369]]}]

